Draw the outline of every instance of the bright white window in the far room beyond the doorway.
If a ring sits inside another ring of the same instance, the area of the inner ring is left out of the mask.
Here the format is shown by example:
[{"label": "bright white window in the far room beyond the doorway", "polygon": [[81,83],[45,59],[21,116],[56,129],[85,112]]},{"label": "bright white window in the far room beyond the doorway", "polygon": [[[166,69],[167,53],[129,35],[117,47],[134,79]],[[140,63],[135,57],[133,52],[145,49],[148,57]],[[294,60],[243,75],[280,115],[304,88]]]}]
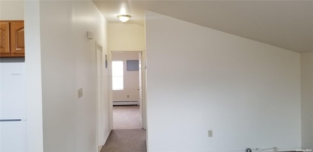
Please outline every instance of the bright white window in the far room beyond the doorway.
[{"label": "bright white window in the far room beyond the doorway", "polygon": [[123,61],[112,61],[112,89],[124,89]]}]

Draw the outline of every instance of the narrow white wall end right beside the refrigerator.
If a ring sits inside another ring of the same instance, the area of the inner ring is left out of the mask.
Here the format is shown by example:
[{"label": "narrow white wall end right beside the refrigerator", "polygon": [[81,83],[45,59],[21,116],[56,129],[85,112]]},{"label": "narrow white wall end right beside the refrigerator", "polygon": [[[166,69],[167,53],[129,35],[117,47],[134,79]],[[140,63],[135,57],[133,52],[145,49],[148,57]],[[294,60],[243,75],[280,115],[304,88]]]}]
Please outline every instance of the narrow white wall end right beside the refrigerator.
[{"label": "narrow white wall end right beside the refrigerator", "polygon": [[27,152],[43,152],[39,1],[25,1],[24,7]]}]

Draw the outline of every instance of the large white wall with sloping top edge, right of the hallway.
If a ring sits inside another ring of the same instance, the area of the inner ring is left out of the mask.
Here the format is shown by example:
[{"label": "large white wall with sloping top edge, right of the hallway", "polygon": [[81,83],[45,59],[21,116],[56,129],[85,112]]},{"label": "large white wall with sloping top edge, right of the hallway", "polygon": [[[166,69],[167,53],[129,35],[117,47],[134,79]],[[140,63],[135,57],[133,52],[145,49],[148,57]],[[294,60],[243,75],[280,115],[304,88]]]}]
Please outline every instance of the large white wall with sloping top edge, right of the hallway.
[{"label": "large white wall with sloping top edge, right of the hallway", "polygon": [[298,53],[150,11],[145,27],[149,152],[301,147]]}]

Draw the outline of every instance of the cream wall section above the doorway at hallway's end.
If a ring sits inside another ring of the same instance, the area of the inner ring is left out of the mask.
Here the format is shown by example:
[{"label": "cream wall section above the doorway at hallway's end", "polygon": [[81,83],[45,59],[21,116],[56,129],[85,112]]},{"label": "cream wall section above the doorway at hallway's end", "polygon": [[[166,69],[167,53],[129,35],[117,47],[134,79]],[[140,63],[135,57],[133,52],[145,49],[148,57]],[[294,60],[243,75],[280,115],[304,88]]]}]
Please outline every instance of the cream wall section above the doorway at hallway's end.
[{"label": "cream wall section above the doorway at hallway's end", "polygon": [[110,51],[142,51],[145,48],[144,27],[137,24],[109,24]]}]

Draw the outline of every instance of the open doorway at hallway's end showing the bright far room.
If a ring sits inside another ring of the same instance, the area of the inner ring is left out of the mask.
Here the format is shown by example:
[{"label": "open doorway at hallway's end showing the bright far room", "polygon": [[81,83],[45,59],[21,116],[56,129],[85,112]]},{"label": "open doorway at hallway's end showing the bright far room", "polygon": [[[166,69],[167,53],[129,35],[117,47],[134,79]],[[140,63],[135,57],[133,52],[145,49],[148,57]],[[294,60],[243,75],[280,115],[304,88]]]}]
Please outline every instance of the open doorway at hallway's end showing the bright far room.
[{"label": "open doorway at hallway's end showing the bright far room", "polygon": [[114,129],[141,129],[141,51],[112,52],[112,124]]}]

